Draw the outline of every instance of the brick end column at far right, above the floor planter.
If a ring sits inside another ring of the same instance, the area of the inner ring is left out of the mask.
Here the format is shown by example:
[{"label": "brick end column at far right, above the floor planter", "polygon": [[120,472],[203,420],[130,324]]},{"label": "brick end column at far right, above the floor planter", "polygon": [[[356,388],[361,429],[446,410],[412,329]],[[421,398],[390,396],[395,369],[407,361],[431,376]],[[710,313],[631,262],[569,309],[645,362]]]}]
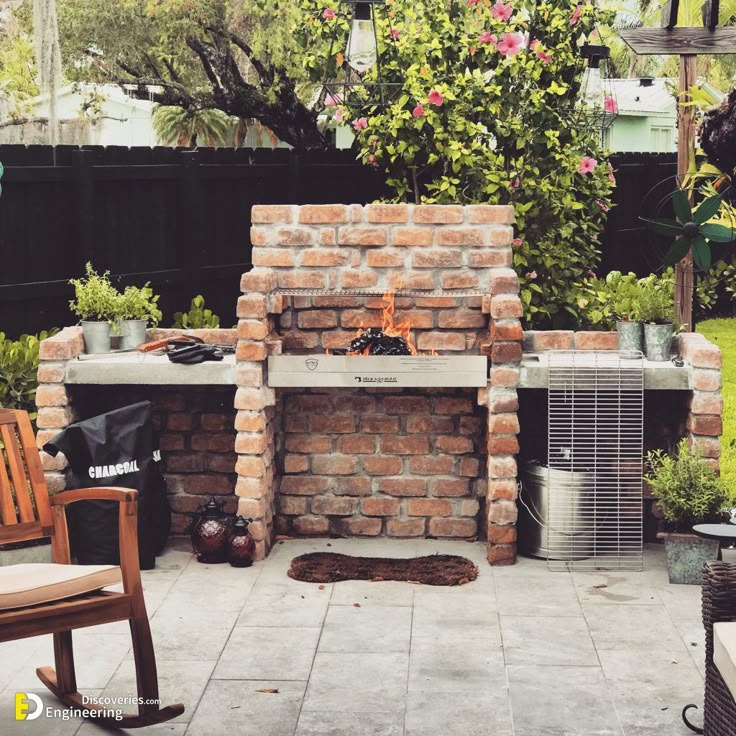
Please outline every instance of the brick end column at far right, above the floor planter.
[{"label": "brick end column at far right, above the floor planter", "polygon": [[687,417],[688,440],[708,462],[719,469],[723,432],[720,349],[697,332],[677,337],[677,347],[690,371],[693,388]]}]

